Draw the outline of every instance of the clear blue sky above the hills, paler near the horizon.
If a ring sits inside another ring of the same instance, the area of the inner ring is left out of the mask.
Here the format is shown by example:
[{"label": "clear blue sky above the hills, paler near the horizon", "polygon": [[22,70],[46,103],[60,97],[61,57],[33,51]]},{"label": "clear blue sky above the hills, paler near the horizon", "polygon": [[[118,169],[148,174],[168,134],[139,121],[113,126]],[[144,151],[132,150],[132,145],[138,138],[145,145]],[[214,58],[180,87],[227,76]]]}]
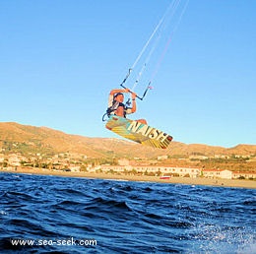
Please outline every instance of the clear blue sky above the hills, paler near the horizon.
[{"label": "clear blue sky above the hills, paler near the horizon", "polygon": [[[119,88],[170,3],[0,1],[0,121],[118,137],[101,122],[108,93]],[[255,12],[254,0],[190,0],[154,90],[130,118],[146,118],[186,144],[256,144]],[[135,92],[147,86],[169,32],[161,32]]]}]

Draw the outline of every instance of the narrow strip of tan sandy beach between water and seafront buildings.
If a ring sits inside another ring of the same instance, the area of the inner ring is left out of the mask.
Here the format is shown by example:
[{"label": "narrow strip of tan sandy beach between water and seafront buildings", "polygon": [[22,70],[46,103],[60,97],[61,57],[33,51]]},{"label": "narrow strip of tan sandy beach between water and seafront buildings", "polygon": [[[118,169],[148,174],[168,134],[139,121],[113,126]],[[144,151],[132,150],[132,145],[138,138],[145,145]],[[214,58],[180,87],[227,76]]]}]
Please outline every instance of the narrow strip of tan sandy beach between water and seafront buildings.
[{"label": "narrow strip of tan sandy beach between water and seafront buildings", "polygon": [[253,180],[238,180],[238,179],[210,179],[210,178],[190,178],[190,177],[171,177],[169,179],[160,179],[159,176],[147,175],[117,175],[110,173],[89,173],[89,172],[64,172],[53,171],[48,169],[30,169],[18,168],[17,170],[7,171],[0,170],[0,172],[13,172],[13,173],[31,173],[41,175],[58,175],[66,177],[86,177],[97,179],[115,179],[127,181],[146,181],[146,182],[161,182],[161,183],[174,183],[174,184],[188,184],[188,185],[211,185],[221,187],[239,187],[256,189],[256,181]]}]

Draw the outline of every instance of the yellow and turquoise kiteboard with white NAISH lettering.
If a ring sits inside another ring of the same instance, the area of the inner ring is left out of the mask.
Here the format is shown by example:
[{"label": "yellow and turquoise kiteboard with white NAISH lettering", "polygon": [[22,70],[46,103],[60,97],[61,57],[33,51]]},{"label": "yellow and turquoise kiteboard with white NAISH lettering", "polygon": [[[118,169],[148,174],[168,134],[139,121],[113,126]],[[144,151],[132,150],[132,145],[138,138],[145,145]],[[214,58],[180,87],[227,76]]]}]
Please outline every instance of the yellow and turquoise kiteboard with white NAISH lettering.
[{"label": "yellow and turquoise kiteboard with white NAISH lettering", "polygon": [[168,134],[147,124],[117,115],[110,115],[105,128],[142,145],[166,149],[172,140]]}]

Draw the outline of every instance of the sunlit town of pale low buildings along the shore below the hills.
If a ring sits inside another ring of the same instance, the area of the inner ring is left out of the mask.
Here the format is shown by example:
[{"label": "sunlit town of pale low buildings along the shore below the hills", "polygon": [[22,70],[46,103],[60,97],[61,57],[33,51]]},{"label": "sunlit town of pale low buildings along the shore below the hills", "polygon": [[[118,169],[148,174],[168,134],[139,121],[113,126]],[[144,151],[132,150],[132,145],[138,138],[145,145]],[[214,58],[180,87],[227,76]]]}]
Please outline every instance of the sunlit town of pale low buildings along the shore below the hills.
[{"label": "sunlit town of pale low buildings along the shore below the hills", "polygon": [[[236,156],[239,159],[239,156]],[[243,157],[255,161],[254,156]],[[208,159],[207,157],[190,157],[189,160]],[[228,157],[215,156],[215,159],[229,159]],[[230,170],[225,168],[205,168],[198,165],[173,165],[169,164],[167,156],[157,159],[90,159],[79,154],[63,153],[52,157],[40,154],[23,156],[21,154],[0,154],[0,169],[2,171],[16,171],[18,168],[40,168],[51,171],[94,172],[116,175],[148,175],[169,177],[205,177],[213,179],[256,179],[255,169]]]}]

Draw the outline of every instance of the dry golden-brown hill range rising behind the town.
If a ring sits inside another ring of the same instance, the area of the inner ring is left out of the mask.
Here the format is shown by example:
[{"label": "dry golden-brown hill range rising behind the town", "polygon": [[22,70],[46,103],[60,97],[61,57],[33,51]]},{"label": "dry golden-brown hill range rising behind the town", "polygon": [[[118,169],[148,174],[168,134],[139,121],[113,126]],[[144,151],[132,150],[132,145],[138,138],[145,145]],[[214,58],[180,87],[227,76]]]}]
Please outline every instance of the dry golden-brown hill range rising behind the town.
[{"label": "dry golden-brown hill range rising behind the town", "polygon": [[256,145],[237,145],[233,148],[172,142],[168,149],[159,150],[118,138],[89,138],[70,135],[47,127],[34,127],[15,122],[0,123],[2,153],[45,154],[75,153],[89,158],[142,158],[159,156],[248,156],[256,154]]}]

